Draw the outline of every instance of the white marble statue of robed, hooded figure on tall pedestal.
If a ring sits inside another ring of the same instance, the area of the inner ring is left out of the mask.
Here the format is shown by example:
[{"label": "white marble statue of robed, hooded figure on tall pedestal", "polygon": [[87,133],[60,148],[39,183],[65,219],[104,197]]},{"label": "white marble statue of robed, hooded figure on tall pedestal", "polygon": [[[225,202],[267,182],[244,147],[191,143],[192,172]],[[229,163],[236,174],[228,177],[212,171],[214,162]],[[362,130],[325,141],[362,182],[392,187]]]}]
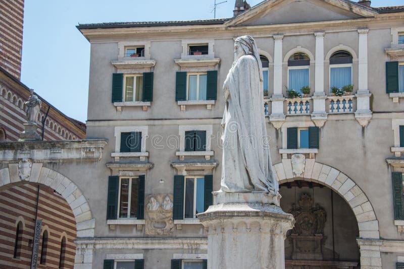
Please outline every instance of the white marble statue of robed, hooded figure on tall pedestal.
[{"label": "white marble statue of robed, hooded figure on tall pedestal", "polygon": [[279,185],[268,146],[260,54],[250,36],[234,42],[234,62],[223,85],[221,190],[276,195]]}]

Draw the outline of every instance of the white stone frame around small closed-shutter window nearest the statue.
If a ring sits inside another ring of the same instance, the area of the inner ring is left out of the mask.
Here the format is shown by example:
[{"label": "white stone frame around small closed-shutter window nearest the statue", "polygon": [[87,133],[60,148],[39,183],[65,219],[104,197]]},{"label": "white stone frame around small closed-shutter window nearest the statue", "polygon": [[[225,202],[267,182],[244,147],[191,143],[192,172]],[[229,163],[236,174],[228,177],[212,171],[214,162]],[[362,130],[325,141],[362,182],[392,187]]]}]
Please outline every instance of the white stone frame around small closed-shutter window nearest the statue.
[{"label": "white stone frame around small closed-shutter window nearest the statue", "polygon": [[[185,131],[200,130],[206,131],[206,151],[185,151]],[[178,135],[180,138],[179,151],[175,153],[183,161],[185,156],[199,157],[205,156],[205,160],[209,161],[214,152],[211,151],[211,138],[213,136],[213,125],[178,125]],[[143,139],[143,138],[142,138]]]}]

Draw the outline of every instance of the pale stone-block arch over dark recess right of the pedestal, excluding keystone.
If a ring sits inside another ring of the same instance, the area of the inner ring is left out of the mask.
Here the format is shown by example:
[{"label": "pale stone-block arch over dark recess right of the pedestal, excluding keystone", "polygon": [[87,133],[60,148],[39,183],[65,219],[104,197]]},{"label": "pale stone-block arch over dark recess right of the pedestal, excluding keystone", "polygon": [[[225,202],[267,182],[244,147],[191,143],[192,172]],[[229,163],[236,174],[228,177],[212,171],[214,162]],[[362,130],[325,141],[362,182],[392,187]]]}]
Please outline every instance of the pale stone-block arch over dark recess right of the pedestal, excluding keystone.
[{"label": "pale stone-block arch over dark recess right of the pedestal, excluding keystone", "polygon": [[[275,172],[279,184],[294,180],[290,159],[283,159],[276,164]],[[379,222],[375,211],[365,192],[347,175],[331,166],[306,159],[303,177],[306,181],[314,181],[341,195],[354,212],[362,239],[379,239]]]}]

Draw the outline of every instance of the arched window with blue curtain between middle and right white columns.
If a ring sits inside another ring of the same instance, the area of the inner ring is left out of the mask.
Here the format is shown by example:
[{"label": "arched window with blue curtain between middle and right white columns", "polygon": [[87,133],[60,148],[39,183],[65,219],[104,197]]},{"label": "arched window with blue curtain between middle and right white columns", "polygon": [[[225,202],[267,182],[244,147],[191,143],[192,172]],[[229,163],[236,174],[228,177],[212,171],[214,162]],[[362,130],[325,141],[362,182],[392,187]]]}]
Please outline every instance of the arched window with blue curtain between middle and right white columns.
[{"label": "arched window with blue curtain between middle and right white columns", "polygon": [[330,89],[352,85],[352,55],[344,50],[330,57]]}]

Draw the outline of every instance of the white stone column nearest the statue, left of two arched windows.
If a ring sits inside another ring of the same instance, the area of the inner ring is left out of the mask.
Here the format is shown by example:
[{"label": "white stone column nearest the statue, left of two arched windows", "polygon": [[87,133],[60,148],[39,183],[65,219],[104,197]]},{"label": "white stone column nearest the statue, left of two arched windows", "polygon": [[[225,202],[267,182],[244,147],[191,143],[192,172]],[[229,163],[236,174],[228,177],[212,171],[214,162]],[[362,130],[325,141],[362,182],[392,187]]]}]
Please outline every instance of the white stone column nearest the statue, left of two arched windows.
[{"label": "white stone column nearest the statue, left of two arched windows", "polygon": [[283,113],[283,101],[285,98],[282,94],[282,39],[283,35],[274,35],[274,94],[270,99],[272,113],[269,120],[277,129],[282,126],[286,119]]}]

